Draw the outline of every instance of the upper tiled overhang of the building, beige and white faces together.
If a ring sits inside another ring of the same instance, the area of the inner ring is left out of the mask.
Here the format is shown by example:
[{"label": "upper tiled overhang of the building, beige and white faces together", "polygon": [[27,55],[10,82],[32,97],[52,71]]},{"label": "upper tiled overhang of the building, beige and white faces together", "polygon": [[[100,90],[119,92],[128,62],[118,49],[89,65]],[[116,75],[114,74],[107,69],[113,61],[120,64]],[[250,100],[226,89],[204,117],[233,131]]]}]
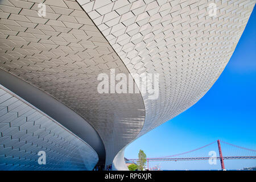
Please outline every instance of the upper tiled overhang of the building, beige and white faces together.
[{"label": "upper tiled overhang of the building, beige and white faces together", "polygon": [[[255,5],[214,1],[211,11],[212,1],[47,0],[40,18],[32,0],[1,3],[0,67],[88,121],[104,143],[105,165],[114,169],[127,169],[127,144],[204,96]],[[158,73],[159,97],[98,93],[97,76],[110,69]]]}]

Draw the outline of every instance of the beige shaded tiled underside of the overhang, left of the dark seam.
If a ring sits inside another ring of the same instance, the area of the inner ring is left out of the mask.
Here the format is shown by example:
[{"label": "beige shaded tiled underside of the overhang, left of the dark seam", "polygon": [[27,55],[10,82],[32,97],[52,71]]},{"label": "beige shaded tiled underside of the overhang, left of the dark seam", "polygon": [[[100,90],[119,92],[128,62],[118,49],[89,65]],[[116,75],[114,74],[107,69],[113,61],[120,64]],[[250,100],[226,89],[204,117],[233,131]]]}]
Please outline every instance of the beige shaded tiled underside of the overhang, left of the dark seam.
[{"label": "beige shaded tiled underside of the overhang, left of the dark seam", "polygon": [[129,73],[113,48],[75,0],[5,0],[0,11],[0,68],[85,118],[105,144],[106,164],[112,163],[144,122],[141,94],[97,92],[99,73]]}]

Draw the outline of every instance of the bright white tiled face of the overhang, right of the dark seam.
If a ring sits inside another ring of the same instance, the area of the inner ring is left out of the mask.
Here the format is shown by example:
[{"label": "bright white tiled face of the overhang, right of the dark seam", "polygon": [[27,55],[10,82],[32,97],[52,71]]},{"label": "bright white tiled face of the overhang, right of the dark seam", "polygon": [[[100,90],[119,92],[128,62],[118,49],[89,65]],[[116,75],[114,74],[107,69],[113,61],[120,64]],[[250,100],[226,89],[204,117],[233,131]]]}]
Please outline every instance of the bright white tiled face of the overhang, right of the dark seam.
[{"label": "bright white tiled face of the overhang, right of the dark seam", "polygon": [[[143,94],[141,135],[195,104],[220,76],[255,0],[79,0],[130,73],[159,73],[159,98]],[[217,14],[210,17],[209,4]]]}]

